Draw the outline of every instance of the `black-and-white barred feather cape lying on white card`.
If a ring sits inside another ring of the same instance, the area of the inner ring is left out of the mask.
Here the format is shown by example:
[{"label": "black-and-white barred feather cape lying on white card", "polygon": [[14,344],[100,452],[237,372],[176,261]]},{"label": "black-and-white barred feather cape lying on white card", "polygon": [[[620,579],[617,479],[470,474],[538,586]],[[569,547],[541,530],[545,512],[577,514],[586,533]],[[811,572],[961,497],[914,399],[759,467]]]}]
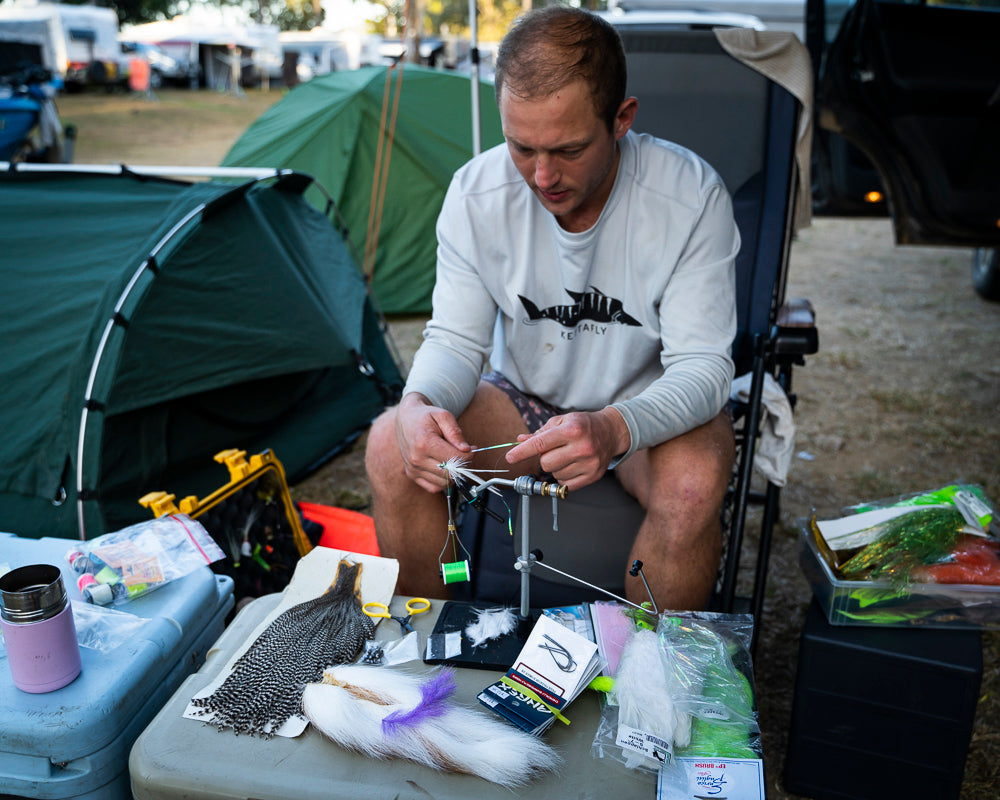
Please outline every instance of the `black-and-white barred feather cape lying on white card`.
[{"label": "black-and-white barred feather cape lying on white card", "polygon": [[361,564],[341,561],[324,594],[276,617],[221,686],[191,701],[196,713],[219,730],[266,738],[301,714],[306,684],[332,664],[353,661],[375,635],[361,610],[360,579]]}]

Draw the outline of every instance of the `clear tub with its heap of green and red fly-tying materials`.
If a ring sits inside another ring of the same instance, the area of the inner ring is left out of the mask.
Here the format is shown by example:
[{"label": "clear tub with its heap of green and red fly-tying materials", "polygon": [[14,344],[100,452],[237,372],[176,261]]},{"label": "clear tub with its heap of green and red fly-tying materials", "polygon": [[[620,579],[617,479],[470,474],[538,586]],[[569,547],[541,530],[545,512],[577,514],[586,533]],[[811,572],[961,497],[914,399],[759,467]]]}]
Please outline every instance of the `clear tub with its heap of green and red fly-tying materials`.
[{"label": "clear tub with its heap of green and red fly-tying materials", "polygon": [[1000,524],[974,484],[800,519],[799,563],[832,625],[1000,628]]}]

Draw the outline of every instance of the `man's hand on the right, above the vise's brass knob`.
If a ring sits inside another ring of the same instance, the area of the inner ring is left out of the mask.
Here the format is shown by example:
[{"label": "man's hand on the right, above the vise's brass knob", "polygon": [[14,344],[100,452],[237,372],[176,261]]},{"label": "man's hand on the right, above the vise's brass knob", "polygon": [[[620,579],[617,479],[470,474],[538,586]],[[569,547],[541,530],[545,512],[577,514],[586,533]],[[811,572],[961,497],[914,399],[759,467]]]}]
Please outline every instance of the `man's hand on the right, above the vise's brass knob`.
[{"label": "man's hand on the right, above the vise's brass knob", "polygon": [[625,420],[610,407],[553,417],[535,433],[517,440],[520,444],[508,451],[507,463],[537,456],[542,469],[570,491],[598,480],[611,459],[626,452],[631,443]]}]

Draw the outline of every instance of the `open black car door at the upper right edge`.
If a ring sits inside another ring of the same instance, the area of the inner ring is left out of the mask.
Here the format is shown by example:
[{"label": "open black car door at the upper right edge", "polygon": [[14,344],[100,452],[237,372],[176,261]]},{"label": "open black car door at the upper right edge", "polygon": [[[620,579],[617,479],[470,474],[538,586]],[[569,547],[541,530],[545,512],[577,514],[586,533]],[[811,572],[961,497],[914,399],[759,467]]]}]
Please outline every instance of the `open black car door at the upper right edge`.
[{"label": "open black car door at the upper right edge", "polygon": [[973,285],[1000,300],[1000,0],[856,0],[832,41],[808,5],[817,120],[879,171],[900,244],[977,248]]}]

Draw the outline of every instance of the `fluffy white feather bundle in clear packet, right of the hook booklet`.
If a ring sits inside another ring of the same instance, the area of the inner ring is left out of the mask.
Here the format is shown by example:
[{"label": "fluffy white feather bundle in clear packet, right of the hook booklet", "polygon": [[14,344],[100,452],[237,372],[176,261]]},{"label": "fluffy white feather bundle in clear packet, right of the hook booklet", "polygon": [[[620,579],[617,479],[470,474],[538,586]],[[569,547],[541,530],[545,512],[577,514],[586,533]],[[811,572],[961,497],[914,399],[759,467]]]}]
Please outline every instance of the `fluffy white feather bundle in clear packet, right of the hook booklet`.
[{"label": "fluffy white feather bundle in clear packet, right of the hook booklet", "polygon": [[674,703],[675,684],[660,637],[640,628],[626,643],[615,675],[619,724],[652,733],[676,747],[690,744],[691,715]]}]

